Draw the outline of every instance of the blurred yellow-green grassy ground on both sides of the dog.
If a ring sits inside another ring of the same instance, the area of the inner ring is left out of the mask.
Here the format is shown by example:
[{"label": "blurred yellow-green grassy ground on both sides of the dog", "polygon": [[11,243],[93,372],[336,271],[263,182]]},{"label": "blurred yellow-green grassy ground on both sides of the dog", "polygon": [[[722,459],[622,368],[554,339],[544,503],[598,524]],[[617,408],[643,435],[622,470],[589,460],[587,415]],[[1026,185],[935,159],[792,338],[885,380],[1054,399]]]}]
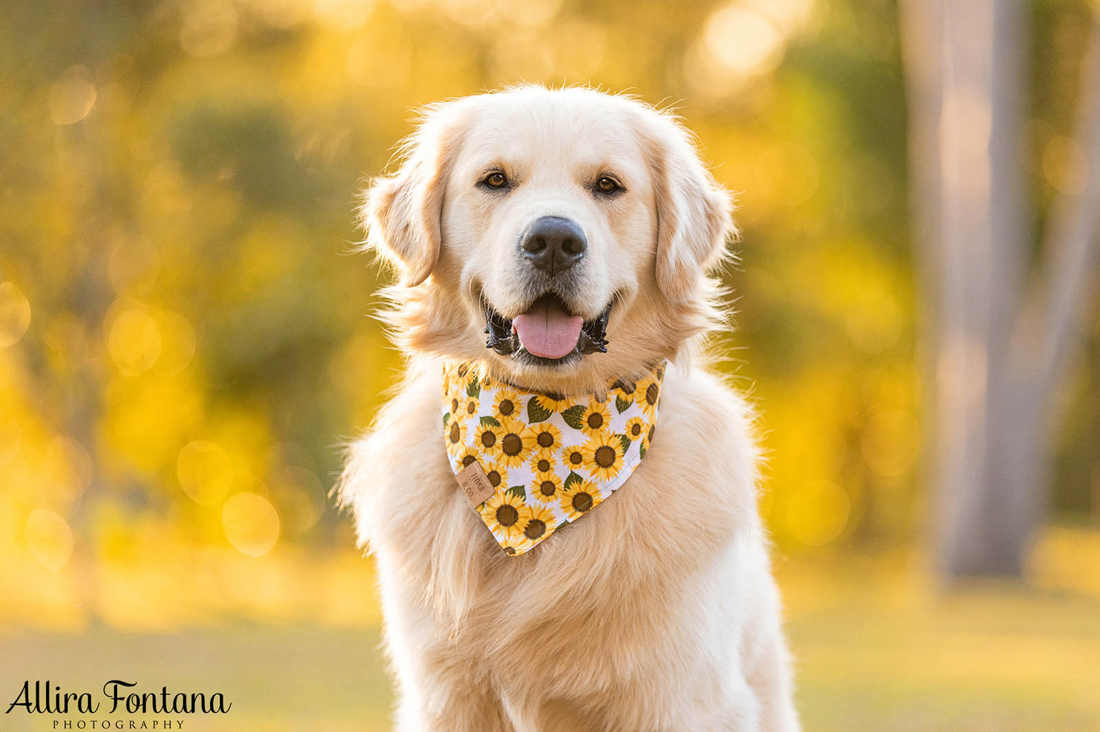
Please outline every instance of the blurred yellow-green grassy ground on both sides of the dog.
[{"label": "blurred yellow-green grassy ground on both sides of the dog", "polygon": [[[1057,552],[1050,544],[1041,556]],[[1092,564],[1081,556],[1082,567]],[[807,732],[1100,729],[1096,595],[1059,586],[1050,573],[1037,583],[1045,589],[987,584],[944,594],[911,555],[777,564]],[[374,626],[317,623],[9,630],[0,633],[0,700],[10,703],[28,677],[97,696],[119,677],[148,689],[222,691],[233,702],[224,718],[196,716],[184,730],[372,732],[388,729],[391,701],[377,643]],[[48,717],[28,719],[15,710],[0,730],[53,729]]]}]

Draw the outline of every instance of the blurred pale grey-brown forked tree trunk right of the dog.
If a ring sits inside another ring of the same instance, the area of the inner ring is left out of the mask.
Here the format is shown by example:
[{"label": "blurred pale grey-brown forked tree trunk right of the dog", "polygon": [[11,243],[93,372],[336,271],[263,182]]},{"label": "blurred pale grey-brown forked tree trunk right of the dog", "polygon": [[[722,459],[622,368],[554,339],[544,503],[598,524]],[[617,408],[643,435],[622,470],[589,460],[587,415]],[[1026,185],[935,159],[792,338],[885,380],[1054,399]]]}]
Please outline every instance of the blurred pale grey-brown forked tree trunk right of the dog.
[{"label": "blurred pale grey-brown forked tree trunk right of the dog", "polygon": [[[1020,576],[1049,479],[1052,386],[1091,292],[1100,68],[1081,86],[1091,175],[1080,196],[1056,207],[1046,276],[1025,299],[1023,3],[902,0],[901,10],[939,568],[947,579]],[[1100,65],[1096,48],[1088,65]]]}]

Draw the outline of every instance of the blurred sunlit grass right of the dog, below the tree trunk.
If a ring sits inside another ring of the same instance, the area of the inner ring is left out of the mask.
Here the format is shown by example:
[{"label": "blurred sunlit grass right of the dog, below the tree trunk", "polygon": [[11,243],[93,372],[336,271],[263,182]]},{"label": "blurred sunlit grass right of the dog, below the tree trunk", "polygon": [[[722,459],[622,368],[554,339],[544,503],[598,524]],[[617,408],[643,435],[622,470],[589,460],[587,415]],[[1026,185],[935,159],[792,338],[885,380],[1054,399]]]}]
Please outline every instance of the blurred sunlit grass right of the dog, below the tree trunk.
[{"label": "blurred sunlit grass right of the dog, below the tree trunk", "polygon": [[1093,597],[1007,583],[946,594],[892,562],[777,574],[807,732],[1100,730]]}]

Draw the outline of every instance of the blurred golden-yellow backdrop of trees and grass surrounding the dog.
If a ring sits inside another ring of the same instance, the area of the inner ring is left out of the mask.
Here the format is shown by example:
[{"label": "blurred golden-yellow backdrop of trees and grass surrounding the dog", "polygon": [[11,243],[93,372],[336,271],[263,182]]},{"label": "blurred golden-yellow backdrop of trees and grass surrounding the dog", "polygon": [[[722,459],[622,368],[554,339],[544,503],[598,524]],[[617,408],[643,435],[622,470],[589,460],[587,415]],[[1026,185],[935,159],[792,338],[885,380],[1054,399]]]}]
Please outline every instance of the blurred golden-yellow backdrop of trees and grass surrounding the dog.
[{"label": "blurred golden-yellow backdrop of trees and grass surrounding the dog", "polygon": [[121,677],[234,702],[189,729],[388,729],[328,499],[400,365],[354,197],[415,108],[528,80],[674,108],[738,191],[716,347],[806,730],[1100,729],[1098,13],[2,3],[0,699]]}]

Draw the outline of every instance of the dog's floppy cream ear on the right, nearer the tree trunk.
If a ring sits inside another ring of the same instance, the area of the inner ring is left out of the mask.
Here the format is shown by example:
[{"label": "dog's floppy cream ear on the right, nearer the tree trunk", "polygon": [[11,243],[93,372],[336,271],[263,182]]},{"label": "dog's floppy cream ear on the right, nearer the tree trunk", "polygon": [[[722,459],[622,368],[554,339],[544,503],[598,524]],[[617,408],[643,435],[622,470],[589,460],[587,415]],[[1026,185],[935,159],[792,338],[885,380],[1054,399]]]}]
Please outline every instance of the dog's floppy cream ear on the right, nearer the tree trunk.
[{"label": "dog's floppy cream ear on the right, nearer the tree trunk", "polygon": [[700,160],[690,133],[649,112],[647,154],[657,198],[657,284],[673,303],[691,300],[736,235],[733,198]]}]

